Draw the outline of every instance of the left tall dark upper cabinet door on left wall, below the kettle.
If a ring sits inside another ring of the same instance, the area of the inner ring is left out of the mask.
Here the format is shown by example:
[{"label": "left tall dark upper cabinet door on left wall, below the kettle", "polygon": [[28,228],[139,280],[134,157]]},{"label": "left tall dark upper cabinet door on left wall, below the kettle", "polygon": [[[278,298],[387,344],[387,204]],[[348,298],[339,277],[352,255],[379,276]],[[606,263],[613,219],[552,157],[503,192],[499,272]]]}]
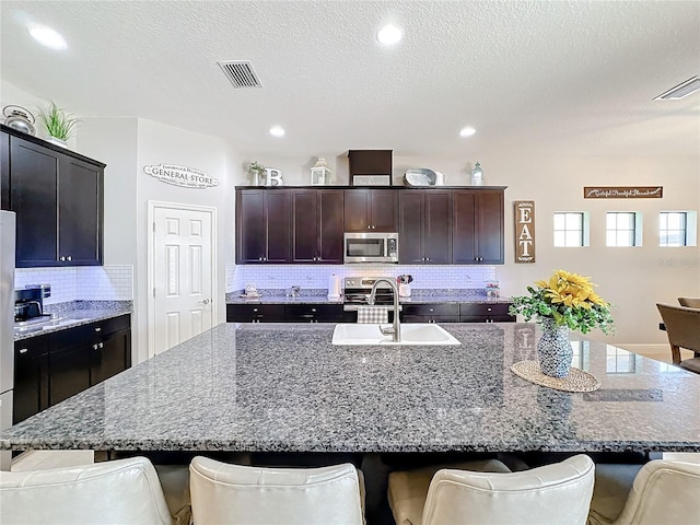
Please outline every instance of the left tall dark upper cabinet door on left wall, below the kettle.
[{"label": "left tall dark upper cabinet door on left wall, below the kettle", "polygon": [[10,137],[10,207],[18,268],[58,266],[58,172],[54,151]]}]

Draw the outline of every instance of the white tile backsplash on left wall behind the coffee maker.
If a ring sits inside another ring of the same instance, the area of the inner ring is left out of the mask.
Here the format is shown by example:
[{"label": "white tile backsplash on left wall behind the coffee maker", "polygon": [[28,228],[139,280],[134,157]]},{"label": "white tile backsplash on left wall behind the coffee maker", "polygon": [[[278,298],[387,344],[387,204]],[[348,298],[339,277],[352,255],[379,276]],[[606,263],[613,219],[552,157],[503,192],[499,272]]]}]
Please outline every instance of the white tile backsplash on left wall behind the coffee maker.
[{"label": "white tile backsplash on left wall behind the coffee maker", "polygon": [[44,304],[69,301],[131,301],[133,267],[73,266],[70,268],[16,268],[14,288],[26,284],[50,284],[51,296]]}]

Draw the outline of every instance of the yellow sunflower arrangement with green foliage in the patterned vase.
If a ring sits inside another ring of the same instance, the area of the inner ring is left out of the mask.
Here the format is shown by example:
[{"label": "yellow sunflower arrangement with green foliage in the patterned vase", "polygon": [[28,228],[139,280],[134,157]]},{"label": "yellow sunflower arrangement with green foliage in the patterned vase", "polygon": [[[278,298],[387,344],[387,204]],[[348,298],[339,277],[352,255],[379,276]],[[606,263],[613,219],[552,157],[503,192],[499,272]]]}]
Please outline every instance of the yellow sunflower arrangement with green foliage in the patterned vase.
[{"label": "yellow sunflower arrangement with green foliage in the patterned vase", "polygon": [[557,326],[587,334],[599,328],[604,334],[614,329],[610,304],[593,290],[597,284],[591,278],[564,270],[557,270],[548,281],[536,281],[527,287],[528,295],[512,298],[511,315],[522,314],[525,320],[533,317],[551,318]]}]

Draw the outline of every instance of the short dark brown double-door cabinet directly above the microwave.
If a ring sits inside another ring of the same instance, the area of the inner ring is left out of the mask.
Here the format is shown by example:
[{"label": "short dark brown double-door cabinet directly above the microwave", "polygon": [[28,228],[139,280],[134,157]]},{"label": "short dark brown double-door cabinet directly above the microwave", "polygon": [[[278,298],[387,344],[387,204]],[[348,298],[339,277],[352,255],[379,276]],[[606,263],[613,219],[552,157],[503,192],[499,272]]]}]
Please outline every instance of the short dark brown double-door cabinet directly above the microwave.
[{"label": "short dark brown double-door cabinet directly above the microwave", "polygon": [[397,232],[395,190],[349,189],[345,191],[346,232]]}]

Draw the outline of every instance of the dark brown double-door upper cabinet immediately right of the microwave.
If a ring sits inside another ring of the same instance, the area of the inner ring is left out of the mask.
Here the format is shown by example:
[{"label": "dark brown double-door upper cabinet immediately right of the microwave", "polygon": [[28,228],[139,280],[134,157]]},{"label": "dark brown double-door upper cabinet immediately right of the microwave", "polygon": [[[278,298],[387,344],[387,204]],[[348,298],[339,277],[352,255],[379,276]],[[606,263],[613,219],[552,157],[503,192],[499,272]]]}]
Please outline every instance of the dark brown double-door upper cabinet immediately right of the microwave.
[{"label": "dark brown double-door upper cabinet immediately right of the microwave", "polygon": [[404,265],[452,261],[452,192],[406,190],[399,195],[398,253]]}]

